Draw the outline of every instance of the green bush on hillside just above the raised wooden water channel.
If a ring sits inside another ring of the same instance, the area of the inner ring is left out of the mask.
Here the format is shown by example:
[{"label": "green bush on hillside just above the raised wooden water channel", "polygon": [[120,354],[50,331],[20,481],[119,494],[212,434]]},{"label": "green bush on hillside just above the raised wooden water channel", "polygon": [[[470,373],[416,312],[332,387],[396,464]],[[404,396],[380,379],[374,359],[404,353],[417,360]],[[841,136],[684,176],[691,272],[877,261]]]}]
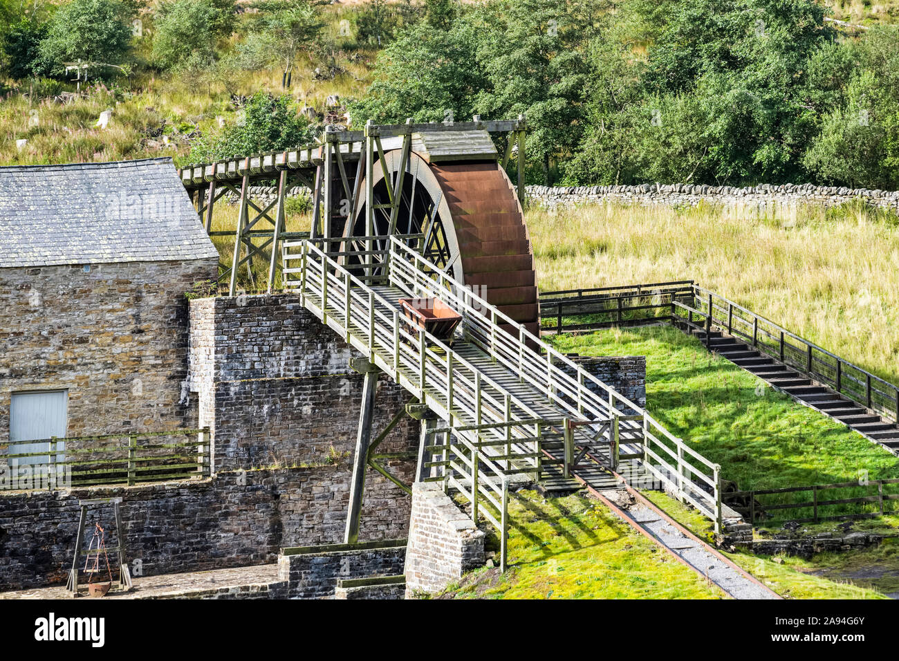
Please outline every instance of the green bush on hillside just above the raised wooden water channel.
[{"label": "green bush on hillside just above the raised wooden water channel", "polygon": [[217,133],[202,136],[187,160],[213,161],[298,147],[311,142],[315,133],[315,127],[298,114],[289,94],[274,97],[257,92],[245,103],[240,120]]}]

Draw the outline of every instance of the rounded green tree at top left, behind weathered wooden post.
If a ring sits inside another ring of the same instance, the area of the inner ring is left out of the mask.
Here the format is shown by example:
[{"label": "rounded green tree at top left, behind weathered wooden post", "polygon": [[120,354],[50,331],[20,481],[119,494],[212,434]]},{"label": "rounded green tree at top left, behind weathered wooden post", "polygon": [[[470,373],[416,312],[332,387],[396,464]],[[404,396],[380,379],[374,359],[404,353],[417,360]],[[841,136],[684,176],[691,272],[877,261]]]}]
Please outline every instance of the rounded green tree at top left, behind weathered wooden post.
[{"label": "rounded green tree at top left, behind weathered wooden post", "polygon": [[131,45],[133,13],[120,0],[72,0],[59,7],[40,42],[40,60],[61,76],[64,63],[81,60],[88,76],[102,76],[105,67],[122,62]]}]

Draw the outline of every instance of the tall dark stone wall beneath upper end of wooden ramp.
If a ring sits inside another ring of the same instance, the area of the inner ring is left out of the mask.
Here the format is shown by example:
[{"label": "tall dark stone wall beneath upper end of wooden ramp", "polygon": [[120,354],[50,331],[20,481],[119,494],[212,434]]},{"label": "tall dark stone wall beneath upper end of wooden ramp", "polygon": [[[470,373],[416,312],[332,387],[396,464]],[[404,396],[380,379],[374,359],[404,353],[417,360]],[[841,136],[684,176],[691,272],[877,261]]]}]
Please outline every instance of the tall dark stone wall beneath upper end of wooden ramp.
[{"label": "tall dark stone wall beneath upper end of wooden ramp", "polygon": [[[216,469],[320,463],[352,453],[363,376],[355,353],[295,294],[191,301],[190,388],[200,424],[212,429]],[[377,434],[410,396],[378,380]],[[414,451],[418,423],[405,418],[379,452]],[[411,467],[411,464],[410,464]]]}]

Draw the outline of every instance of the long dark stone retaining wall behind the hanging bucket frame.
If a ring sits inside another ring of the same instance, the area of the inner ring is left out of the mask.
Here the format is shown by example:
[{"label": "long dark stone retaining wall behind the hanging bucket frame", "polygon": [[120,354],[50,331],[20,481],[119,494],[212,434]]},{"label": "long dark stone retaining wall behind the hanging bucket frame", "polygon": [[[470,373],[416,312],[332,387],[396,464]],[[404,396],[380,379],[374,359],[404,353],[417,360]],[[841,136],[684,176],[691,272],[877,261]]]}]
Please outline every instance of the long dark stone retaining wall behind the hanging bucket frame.
[{"label": "long dark stone retaining wall behind the hanging bucket frame", "polygon": [[[0,494],[0,590],[65,584],[83,498],[122,497],[128,559],[152,576],[273,563],[283,547],[339,542],[350,477],[341,464],[219,472],[195,482]],[[370,475],[360,539],[405,537],[409,510],[404,492]],[[110,535],[107,544],[115,544],[111,508],[97,514]]]}]

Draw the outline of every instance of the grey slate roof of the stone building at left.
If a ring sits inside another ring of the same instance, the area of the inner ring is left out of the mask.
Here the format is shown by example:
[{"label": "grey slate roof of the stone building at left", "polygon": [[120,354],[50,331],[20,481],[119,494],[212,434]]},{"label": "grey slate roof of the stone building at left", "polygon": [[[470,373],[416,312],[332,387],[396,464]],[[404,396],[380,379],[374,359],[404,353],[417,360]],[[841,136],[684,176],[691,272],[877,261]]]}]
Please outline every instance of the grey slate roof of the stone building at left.
[{"label": "grey slate roof of the stone building at left", "polygon": [[216,256],[171,158],[0,167],[0,268]]}]

